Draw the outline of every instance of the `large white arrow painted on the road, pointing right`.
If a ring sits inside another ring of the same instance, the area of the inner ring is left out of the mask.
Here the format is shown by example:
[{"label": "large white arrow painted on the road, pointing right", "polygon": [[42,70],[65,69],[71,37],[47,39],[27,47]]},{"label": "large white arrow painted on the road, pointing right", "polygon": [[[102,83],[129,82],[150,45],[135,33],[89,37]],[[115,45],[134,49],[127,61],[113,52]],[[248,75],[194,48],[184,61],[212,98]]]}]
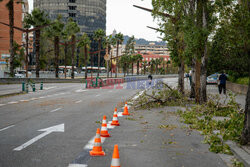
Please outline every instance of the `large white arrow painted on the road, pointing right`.
[{"label": "large white arrow painted on the road, pointing right", "polygon": [[52,126],[46,129],[40,129],[38,130],[40,132],[44,132],[36,137],[34,137],[33,139],[27,141],[26,143],[24,143],[23,145],[14,148],[13,151],[21,151],[22,149],[28,147],[29,145],[35,143],[36,141],[38,141],[39,139],[49,135],[52,132],[64,132],[64,124],[60,124],[60,125],[56,125],[56,126]]}]

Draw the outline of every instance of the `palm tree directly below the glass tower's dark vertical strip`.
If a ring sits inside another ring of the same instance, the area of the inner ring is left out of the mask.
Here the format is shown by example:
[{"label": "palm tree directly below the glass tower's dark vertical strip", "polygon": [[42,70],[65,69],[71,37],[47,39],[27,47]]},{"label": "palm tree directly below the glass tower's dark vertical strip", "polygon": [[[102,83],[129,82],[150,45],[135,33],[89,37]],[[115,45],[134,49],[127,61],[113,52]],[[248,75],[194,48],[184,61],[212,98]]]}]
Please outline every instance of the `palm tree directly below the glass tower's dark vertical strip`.
[{"label": "palm tree directly below the glass tower's dark vertical strip", "polygon": [[69,18],[65,30],[67,32],[67,34],[69,36],[71,36],[71,66],[72,66],[72,70],[71,70],[71,78],[74,79],[75,73],[75,46],[76,46],[76,33],[78,33],[80,31],[79,26],[77,25],[76,22],[74,22],[74,20],[72,18]]}]

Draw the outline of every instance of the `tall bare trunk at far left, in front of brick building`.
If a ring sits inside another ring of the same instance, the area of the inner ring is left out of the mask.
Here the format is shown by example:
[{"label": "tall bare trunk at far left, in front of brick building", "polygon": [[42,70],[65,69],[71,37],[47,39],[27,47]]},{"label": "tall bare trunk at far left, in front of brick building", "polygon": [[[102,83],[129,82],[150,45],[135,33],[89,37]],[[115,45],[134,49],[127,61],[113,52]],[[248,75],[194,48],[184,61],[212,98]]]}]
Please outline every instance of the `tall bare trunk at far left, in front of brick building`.
[{"label": "tall bare trunk at far left, in front of brick building", "polygon": [[10,23],[10,76],[14,77],[14,0],[8,2]]}]

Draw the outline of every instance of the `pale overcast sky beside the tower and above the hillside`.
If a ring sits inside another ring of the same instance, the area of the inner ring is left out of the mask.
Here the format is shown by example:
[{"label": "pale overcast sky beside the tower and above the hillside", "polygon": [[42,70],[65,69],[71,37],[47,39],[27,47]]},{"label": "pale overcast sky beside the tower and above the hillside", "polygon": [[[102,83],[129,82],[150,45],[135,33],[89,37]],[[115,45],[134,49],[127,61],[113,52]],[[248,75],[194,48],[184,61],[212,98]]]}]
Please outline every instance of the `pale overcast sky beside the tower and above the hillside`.
[{"label": "pale overcast sky beside the tower and above the hillside", "polygon": [[[32,10],[33,0],[29,0],[29,4]],[[151,0],[107,0],[107,34],[116,29],[124,35],[159,41],[157,37],[160,34],[146,27],[157,27],[150,12],[135,8],[133,5],[152,9]]]}]

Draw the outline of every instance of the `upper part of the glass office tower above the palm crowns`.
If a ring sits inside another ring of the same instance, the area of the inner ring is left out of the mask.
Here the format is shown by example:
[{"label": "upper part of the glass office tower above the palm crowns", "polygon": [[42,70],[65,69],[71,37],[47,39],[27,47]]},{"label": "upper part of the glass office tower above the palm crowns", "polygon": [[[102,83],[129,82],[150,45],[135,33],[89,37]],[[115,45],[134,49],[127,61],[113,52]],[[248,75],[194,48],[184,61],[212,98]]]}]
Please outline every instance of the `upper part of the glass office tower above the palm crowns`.
[{"label": "upper part of the glass office tower above the palm crowns", "polygon": [[106,31],[106,0],[34,0],[34,8],[46,11],[52,20],[58,14],[64,22],[73,18],[81,33],[92,34],[99,28]]}]

